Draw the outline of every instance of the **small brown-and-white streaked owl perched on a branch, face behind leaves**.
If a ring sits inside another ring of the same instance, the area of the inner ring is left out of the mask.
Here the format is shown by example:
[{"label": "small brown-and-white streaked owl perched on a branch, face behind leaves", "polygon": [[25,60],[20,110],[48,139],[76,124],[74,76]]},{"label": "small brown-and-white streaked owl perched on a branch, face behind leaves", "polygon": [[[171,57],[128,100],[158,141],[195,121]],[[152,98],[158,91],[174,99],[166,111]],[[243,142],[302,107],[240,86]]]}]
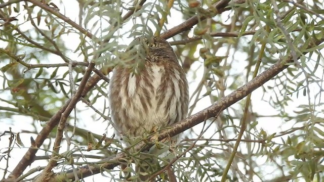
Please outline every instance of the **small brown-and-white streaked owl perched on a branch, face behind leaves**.
[{"label": "small brown-and-white streaked owl perched on a branch, face behind leaves", "polygon": [[[109,85],[111,117],[119,134],[143,136],[186,118],[188,82],[169,42],[138,37],[125,55],[129,62],[114,68]],[[145,161],[153,163],[153,159]],[[140,181],[146,180],[152,167],[136,166]]]}]

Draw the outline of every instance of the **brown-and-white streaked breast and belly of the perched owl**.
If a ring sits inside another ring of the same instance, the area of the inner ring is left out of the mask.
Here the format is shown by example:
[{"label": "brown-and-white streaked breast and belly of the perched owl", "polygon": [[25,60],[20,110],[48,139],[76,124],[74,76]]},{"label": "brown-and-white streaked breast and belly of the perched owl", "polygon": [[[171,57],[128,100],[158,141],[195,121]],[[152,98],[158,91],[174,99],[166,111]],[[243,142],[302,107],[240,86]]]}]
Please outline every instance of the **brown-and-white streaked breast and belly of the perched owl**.
[{"label": "brown-and-white streaked breast and belly of the perched owl", "polygon": [[151,133],[187,115],[187,80],[176,62],[146,62],[139,74],[117,67],[110,81],[111,117],[123,135]]}]

